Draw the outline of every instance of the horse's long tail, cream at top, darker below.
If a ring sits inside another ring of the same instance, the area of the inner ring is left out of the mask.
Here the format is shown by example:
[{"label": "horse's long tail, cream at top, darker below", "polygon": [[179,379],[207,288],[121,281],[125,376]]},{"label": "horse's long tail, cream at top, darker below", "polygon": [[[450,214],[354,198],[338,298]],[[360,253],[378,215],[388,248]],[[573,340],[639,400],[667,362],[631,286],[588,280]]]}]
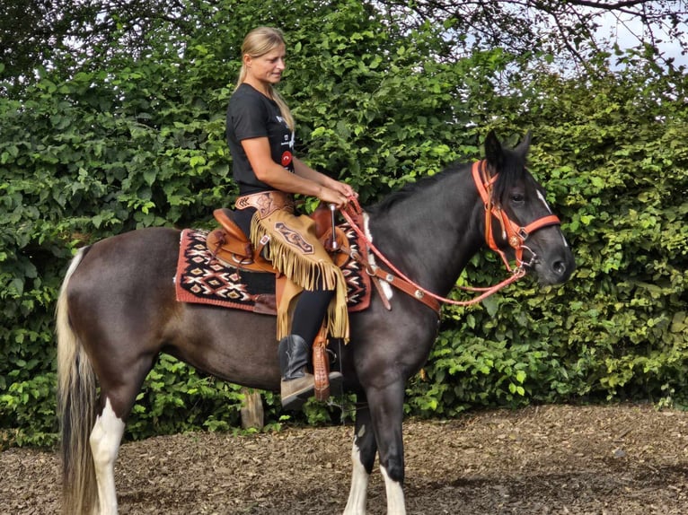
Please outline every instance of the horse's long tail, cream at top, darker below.
[{"label": "horse's long tail, cream at top, darker below", "polygon": [[72,260],[57,299],[57,417],[62,433],[63,512],[90,513],[97,505],[93,455],[89,445],[95,423],[96,380],[68,313],[67,286],[86,249]]}]

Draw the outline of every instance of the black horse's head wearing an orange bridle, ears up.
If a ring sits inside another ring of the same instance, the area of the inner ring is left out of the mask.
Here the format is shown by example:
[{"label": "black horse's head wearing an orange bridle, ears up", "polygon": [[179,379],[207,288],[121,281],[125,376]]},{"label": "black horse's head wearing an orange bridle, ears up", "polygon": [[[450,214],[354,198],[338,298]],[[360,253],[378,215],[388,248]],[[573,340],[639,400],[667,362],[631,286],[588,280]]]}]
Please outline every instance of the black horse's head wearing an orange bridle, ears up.
[{"label": "black horse's head wearing an orange bridle, ears up", "polygon": [[493,249],[506,263],[516,259],[518,266],[534,272],[542,284],[560,284],[576,266],[559,219],[545,200],[544,188],[525,168],[530,142],[530,132],[514,149],[503,148],[494,132],[485,140],[483,179],[492,182],[487,201],[491,231],[486,233],[490,246],[497,247]]}]

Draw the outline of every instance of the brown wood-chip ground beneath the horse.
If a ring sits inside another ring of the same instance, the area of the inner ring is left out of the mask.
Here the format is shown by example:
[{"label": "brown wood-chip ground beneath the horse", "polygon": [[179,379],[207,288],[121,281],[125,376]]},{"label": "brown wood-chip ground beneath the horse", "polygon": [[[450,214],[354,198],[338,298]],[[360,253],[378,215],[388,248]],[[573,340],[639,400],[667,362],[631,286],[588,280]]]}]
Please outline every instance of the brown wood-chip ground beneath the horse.
[{"label": "brown wood-chip ground beneath the horse", "polygon": [[[341,513],[350,425],[233,436],[190,433],[128,443],[116,482],[122,514]],[[652,406],[539,406],[407,421],[413,514],[688,513],[688,413]],[[59,512],[58,460],[0,455],[0,513]],[[368,513],[385,512],[375,469]]]}]

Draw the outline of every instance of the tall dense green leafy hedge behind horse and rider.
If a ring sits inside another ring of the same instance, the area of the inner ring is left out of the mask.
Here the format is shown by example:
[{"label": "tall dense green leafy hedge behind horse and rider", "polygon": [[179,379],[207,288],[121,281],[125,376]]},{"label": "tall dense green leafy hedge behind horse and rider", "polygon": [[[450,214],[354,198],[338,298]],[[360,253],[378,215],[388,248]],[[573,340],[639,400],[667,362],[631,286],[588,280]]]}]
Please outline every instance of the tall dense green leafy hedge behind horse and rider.
[{"label": "tall dense green leafy hedge behind horse and rider", "polygon": [[[574,249],[578,271],[560,288],[525,279],[477,307],[445,307],[424,373],[410,382],[409,414],[686,403],[680,70],[633,52],[625,71],[601,57],[591,63],[596,75],[570,79],[500,49],[435,62],[428,56],[443,46],[434,30],[397,34],[353,0],[322,11],[227,0],[186,14],[202,21],[202,33],[161,22],[142,56],[114,41],[78,69],[43,70],[0,96],[0,445],[55,441],[52,320],[74,249],[139,227],[207,225],[216,206],[230,204],[224,123],[238,47],[246,28],[275,20],[285,21],[290,46],[281,90],[314,166],[350,181],[369,204],[450,161],[480,157],[490,128],[511,143],[532,129],[531,170]],[[485,253],[462,281],[495,284],[504,274]],[[265,398],[268,421],[278,424],[275,399]],[[240,405],[235,385],[164,356],[128,438],[228,430]],[[309,406],[297,420],[337,416]]]}]

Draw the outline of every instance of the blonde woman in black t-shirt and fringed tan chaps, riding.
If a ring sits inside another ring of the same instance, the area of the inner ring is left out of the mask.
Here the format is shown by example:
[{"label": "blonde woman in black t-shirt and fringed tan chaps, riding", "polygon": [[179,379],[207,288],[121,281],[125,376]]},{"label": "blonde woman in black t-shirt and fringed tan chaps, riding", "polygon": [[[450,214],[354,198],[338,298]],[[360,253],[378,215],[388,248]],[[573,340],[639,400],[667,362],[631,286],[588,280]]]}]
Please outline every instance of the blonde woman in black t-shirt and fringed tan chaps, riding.
[{"label": "blonde woman in black t-shirt and fringed tan chaps, riding", "polygon": [[[298,409],[313,395],[313,375],[306,367],[323,320],[331,336],[348,338],[348,316],[343,275],[315,238],[310,218],[295,215],[292,194],[317,196],[338,207],[357,195],[295,157],[294,118],[274,88],[285,70],[285,55],[285,39],[277,29],[260,27],[243,40],[242,68],[227,109],[227,143],[239,184],[236,223],[253,245],[269,239],[273,266],[304,289],[288,310],[291,321],[278,319],[282,406]],[[340,380],[339,372],[330,374],[331,384]]]}]

